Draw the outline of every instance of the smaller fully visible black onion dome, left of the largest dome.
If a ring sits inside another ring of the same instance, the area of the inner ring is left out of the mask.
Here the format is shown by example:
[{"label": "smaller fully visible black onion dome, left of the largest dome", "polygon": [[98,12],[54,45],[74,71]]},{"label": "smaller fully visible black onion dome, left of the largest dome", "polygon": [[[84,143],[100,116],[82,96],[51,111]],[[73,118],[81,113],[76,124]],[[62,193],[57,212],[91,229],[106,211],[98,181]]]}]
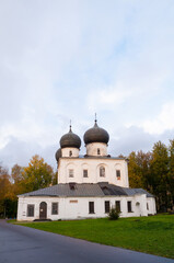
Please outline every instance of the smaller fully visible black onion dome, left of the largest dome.
[{"label": "smaller fully visible black onion dome, left of the largest dome", "polygon": [[61,137],[60,147],[61,148],[73,147],[78,149],[81,147],[81,139],[78,135],[72,133],[71,126],[69,133]]}]

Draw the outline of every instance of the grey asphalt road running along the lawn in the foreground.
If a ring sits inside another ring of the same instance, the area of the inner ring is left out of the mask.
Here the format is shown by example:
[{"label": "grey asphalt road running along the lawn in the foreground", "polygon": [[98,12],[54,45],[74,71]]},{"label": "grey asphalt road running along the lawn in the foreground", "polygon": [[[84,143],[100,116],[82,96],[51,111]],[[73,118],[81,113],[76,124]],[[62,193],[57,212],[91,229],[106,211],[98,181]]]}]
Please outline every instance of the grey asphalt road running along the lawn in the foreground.
[{"label": "grey asphalt road running along the lawn in the foreground", "polygon": [[0,263],[174,263],[0,220]]}]

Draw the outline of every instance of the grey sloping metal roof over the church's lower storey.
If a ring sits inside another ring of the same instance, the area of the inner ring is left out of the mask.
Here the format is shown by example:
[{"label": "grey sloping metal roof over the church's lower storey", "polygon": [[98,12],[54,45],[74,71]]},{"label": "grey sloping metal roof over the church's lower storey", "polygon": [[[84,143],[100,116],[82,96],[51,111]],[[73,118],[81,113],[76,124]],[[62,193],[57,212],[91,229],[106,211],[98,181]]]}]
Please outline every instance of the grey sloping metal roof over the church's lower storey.
[{"label": "grey sloping metal roof over the church's lower storey", "polygon": [[147,197],[153,197],[142,188],[127,188],[114,184],[103,183],[66,183],[57,184],[50,187],[33,191],[20,196],[60,196],[60,197],[104,197],[104,196],[134,196],[137,194],[147,194]]}]

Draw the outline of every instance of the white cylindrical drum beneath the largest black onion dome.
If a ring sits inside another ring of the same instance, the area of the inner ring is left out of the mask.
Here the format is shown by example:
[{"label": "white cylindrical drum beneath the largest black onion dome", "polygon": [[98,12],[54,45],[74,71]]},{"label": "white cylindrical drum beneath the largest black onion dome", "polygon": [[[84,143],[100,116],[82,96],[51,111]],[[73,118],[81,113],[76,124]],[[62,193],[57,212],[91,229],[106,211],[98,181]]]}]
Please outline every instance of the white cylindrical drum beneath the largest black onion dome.
[{"label": "white cylindrical drum beneath the largest black onion dome", "polygon": [[[86,146],[86,155],[88,156],[107,156],[107,145],[103,142],[92,142],[88,144]],[[100,149],[100,155],[97,153],[97,149]]]}]

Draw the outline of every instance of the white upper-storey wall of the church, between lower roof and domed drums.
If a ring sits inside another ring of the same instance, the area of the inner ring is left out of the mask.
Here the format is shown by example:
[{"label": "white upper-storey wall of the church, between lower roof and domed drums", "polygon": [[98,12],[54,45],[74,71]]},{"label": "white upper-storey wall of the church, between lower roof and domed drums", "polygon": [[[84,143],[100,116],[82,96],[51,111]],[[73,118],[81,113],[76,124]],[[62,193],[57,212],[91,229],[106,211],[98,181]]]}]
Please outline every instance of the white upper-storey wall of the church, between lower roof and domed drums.
[{"label": "white upper-storey wall of the church, between lower roof and domed drums", "polygon": [[[100,176],[100,167],[105,168],[105,176]],[[74,176],[69,178],[69,170],[73,169]],[[83,169],[88,170],[88,178],[83,178]],[[120,170],[120,180],[116,178],[116,170]],[[123,187],[129,187],[127,161],[104,158],[60,158],[58,165],[58,183],[98,183],[108,182]]]}]

